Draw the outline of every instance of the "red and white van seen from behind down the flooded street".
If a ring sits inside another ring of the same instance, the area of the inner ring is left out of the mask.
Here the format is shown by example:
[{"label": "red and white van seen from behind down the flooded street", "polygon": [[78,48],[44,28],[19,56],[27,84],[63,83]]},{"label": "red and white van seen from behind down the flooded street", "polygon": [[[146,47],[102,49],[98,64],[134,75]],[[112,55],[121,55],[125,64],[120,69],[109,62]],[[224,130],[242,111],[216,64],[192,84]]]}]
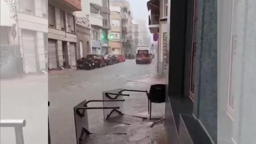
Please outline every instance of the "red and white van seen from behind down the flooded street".
[{"label": "red and white van seen from behind down the flooded street", "polygon": [[152,52],[149,46],[138,46],[136,50],[136,64],[150,64]]}]

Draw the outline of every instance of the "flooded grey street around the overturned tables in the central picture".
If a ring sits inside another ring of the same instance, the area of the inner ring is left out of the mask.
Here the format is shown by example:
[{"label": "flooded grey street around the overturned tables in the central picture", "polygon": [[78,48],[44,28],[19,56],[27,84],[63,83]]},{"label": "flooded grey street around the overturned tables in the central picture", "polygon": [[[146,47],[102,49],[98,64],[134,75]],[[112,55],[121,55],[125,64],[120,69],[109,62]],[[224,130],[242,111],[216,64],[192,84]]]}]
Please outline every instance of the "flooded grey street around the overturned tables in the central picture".
[{"label": "flooded grey street around the overturned tables in the central picture", "polygon": [[[156,60],[156,59],[154,59]],[[151,84],[163,83],[156,76],[156,62],[136,65],[135,60],[126,60],[119,64],[95,70],[50,71],[49,123],[52,144],[75,144],[76,132],[73,107],[83,100],[102,100],[102,92],[117,88],[134,90],[149,89]],[[88,144],[162,144],[164,138],[163,123],[153,128],[149,120],[148,99],[145,93],[129,93],[125,98],[124,113],[147,117],[134,118],[123,116],[122,122],[103,120],[103,110],[88,110],[89,130],[94,133],[88,138]],[[89,106],[103,106],[90,103]],[[164,117],[164,103],[152,104],[152,117]],[[117,135],[113,133],[126,133]]]}]

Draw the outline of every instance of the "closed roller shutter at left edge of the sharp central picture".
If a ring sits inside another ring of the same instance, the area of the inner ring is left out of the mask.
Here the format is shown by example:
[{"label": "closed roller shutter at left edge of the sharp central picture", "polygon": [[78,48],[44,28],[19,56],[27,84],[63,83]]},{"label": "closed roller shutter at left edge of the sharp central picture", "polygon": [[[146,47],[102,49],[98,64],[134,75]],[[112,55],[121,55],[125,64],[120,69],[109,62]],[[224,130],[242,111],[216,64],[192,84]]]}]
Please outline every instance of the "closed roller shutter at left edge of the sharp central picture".
[{"label": "closed roller shutter at left edge of the sharp central picture", "polygon": [[56,40],[48,39],[48,68],[57,68]]}]

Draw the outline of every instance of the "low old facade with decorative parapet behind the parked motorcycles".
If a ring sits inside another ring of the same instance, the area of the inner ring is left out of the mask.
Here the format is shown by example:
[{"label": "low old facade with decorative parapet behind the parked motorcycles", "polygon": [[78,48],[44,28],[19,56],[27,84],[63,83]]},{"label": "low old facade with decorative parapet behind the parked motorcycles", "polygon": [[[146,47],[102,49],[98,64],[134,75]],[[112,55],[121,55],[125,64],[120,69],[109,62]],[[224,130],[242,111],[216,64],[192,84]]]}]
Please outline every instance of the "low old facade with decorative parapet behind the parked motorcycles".
[{"label": "low old facade with decorative parapet behind the parked motorcycles", "polygon": [[78,59],[91,54],[91,28],[89,18],[76,17]]}]

